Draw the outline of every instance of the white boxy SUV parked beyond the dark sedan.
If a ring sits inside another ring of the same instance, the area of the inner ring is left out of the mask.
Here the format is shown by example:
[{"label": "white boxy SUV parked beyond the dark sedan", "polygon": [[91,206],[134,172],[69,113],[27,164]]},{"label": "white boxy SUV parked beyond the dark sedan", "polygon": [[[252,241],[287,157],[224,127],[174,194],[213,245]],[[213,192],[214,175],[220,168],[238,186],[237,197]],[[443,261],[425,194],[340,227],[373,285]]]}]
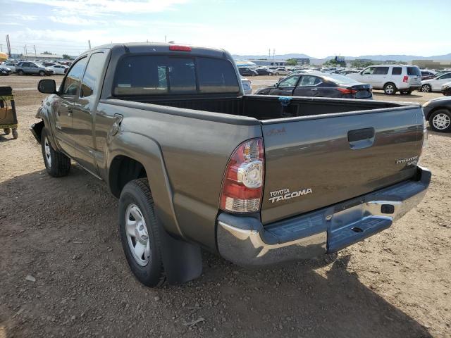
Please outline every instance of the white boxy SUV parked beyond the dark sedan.
[{"label": "white boxy SUV parked beyond the dark sedan", "polygon": [[354,80],[383,89],[387,95],[411,94],[421,87],[421,71],[416,65],[371,65],[359,73],[348,74]]}]

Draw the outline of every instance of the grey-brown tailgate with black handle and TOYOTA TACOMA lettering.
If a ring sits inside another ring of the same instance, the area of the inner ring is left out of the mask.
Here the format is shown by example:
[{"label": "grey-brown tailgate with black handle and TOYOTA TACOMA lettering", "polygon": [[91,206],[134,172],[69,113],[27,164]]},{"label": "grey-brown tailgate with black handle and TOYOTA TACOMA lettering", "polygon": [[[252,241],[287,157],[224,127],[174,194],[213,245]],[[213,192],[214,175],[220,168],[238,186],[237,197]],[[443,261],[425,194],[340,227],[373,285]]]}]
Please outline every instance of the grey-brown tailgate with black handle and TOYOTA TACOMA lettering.
[{"label": "grey-brown tailgate with black handle and TOYOTA TACOMA lettering", "polygon": [[421,154],[419,106],[262,121],[264,224],[412,177]]}]

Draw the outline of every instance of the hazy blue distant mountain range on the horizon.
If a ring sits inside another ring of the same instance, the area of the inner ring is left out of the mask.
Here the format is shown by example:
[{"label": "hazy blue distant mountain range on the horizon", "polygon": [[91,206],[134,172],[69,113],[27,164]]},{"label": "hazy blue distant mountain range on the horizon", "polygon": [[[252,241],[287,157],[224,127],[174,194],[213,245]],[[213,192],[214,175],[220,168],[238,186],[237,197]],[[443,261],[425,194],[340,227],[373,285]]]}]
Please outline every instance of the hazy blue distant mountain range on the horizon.
[{"label": "hazy blue distant mountain range on the horizon", "polygon": [[[268,58],[267,55],[233,55],[234,58],[238,59],[266,59]],[[271,56],[272,58],[272,56]],[[308,56],[306,54],[278,54],[275,55],[274,58],[277,60],[286,60],[288,58],[310,58],[311,63],[315,65],[319,65],[321,63],[324,63],[331,58],[335,58],[335,56],[327,56],[326,58],[314,58],[312,56]],[[356,58],[366,58],[373,61],[386,61],[386,60],[393,60],[393,61],[403,61],[403,62],[410,62],[412,60],[451,60],[451,53],[445,54],[445,55],[434,55],[434,56],[416,56],[416,55],[399,55],[399,54],[393,54],[393,55],[362,55],[362,56],[345,56],[346,60],[355,60]]]}]

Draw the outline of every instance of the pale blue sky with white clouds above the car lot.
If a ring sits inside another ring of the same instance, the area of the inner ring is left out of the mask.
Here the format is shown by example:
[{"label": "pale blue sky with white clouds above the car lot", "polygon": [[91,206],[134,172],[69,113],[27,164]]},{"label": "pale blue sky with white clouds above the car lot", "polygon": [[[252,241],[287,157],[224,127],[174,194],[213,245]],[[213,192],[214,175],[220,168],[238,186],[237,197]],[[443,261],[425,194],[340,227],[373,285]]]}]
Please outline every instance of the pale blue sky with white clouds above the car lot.
[{"label": "pale blue sky with white clouds above the car lot", "polygon": [[233,54],[451,52],[451,0],[0,0],[0,44],[78,55],[109,42],[214,46]]}]

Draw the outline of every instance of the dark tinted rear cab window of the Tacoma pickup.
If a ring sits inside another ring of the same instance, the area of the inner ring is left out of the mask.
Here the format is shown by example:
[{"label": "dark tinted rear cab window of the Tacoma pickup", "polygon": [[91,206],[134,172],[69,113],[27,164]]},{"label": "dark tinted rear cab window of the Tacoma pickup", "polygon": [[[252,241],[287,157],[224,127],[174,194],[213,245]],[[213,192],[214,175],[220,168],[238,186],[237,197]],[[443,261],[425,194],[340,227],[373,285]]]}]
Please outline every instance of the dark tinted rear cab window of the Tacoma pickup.
[{"label": "dark tinted rear cab window of the Tacoma pickup", "polygon": [[115,95],[236,93],[235,68],[218,58],[127,56],[116,68]]}]

